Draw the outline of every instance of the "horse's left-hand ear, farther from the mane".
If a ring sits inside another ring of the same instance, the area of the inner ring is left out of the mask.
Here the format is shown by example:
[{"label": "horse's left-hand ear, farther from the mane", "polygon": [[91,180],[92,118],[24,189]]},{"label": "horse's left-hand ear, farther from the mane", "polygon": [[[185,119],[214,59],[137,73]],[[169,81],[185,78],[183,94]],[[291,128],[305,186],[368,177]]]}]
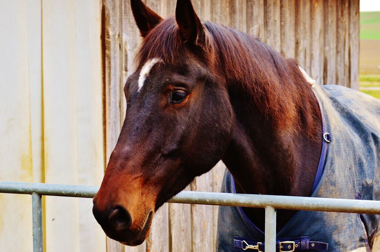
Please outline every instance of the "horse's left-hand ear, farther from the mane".
[{"label": "horse's left-hand ear, farther from the mane", "polygon": [[131,0],[131,8],[142,37],[145,37],[162,20],[162,17],[146,6],[142,0]]}]

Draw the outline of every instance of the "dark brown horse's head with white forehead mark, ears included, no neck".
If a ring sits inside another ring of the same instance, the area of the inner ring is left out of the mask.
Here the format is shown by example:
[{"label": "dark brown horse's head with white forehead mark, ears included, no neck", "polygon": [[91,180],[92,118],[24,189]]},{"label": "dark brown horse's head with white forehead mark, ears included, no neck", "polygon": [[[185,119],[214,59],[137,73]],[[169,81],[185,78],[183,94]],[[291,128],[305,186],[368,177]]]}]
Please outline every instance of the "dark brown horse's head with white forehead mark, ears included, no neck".
[{"label": "dark brown horse's head with white forehead mark, ears included, no neck", "polygon": [[136,246],[155,211],[222,158],[233,112],[212,38],[190,0],[179,0],[165,20],[141,0],[131,7],[143,40],[93,214],[110,238]]}]

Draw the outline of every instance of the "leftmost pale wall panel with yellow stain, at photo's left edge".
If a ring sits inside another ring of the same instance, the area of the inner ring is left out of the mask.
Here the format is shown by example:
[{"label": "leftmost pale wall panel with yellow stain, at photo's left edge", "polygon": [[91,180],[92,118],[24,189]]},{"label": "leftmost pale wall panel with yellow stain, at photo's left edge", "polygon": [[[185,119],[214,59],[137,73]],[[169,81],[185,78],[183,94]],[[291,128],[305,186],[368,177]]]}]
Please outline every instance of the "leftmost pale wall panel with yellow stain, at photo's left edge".
[{"label": "leftmost pale wall panel with yellow stain, at photo's left edge", "polygon": [[[32,182],[25,1],[0,1],[0,34],[0,180]],[[0,251],[32,248],[31,202],[0,194]]]}]

